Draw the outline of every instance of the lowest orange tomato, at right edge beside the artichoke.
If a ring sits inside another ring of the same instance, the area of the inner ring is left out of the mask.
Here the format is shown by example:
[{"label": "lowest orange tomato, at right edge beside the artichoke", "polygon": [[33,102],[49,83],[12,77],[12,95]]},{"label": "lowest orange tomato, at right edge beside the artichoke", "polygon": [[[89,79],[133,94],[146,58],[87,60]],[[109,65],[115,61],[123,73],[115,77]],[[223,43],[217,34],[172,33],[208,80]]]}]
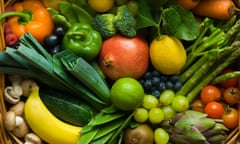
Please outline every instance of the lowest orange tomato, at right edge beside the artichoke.
[{"label": "lowest orange tomato, at right edge beside the artichoke", "polygon": [[222,116],[222,119],[226,128],[234,129],[238,126],[239,113],[235,108],[227,108]]}]

